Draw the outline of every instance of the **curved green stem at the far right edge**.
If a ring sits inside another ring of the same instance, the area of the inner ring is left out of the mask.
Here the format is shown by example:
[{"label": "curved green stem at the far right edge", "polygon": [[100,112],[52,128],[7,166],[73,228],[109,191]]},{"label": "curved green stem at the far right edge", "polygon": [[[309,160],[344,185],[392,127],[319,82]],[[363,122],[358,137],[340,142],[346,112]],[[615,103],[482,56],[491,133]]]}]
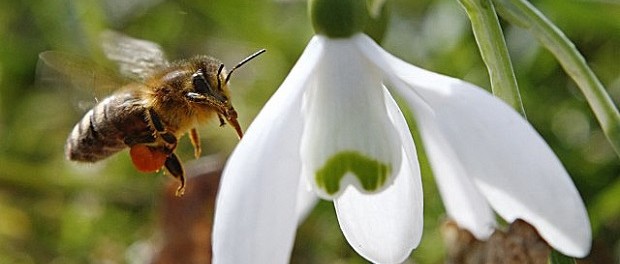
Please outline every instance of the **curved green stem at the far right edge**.
[{"label": "curved green stem at the far right edge", "polygon": [[532,33],[577,83],[603,133],[620,156],[620,113],[575,45],[549,19],[525,0],[493,0],[499,14]]}]

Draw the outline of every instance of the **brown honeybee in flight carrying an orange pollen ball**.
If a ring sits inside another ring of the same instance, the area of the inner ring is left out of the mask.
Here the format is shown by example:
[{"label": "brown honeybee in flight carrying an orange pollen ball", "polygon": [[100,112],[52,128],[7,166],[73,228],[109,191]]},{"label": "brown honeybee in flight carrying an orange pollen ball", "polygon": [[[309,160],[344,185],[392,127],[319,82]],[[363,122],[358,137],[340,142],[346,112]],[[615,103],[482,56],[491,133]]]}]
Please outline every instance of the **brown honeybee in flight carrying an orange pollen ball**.
[{"label": "brown honeybee in flight carrying an orange pollen ball", "polygon": [[[137,170],[165,168],[179,180],[176,195],[182,196],[185,173],[175,154],[178,139],[189,132],[198,158],[201,146],[196,127],[215,116],[220,126],[228,123],[241,139],[243,132],[228,82],[237,68],[265,50],[227,72],[213,57],[201,55],[170,63],[155,43],[111,31],[104,32],[102,39],[106,57],[131,81],[96,104],[75,125],[65,145],[67,159],[96,162],[128,147]],[[40,54],[42,62],[61,73],[79,68],[79,63],[71,64],[63,57],[54,51]]]}]

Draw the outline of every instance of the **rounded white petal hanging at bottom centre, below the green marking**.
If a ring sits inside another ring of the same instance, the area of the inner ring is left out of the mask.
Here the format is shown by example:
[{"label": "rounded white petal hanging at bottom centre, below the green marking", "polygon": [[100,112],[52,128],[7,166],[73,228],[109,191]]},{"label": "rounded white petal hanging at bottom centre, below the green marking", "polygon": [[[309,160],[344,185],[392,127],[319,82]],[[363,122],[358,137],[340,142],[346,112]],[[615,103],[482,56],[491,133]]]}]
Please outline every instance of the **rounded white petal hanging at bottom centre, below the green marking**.
[{"label": "rounded white petal hanging at bottom centre, below the green marking", "polygon": [[400,172],[387,189],[364,194],[349,187],[334,205],[355,251],[375,263],[402,263],[422,237],[422,183],[409,127],[387,90],[385,94],[390,119],[403,141]]}]

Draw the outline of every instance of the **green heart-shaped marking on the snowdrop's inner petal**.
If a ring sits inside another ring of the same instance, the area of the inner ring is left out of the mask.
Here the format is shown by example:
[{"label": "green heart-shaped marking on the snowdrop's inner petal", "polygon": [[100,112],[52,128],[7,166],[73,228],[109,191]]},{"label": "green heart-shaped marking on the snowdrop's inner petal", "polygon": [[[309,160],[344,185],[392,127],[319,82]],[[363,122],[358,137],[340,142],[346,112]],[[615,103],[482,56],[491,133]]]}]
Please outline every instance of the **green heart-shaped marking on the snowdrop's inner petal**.
[{"label": "green heart-shaped marking on the snowdrop's inner petal", "polygon": [[340,190],[340,180],[347,172],[353,173],[366,191],[376,191],[385,184],[390,174],[390,164],[384,164],[356,151],[343,151],[327,160],[316,172],[316,183],[328,194]]}]

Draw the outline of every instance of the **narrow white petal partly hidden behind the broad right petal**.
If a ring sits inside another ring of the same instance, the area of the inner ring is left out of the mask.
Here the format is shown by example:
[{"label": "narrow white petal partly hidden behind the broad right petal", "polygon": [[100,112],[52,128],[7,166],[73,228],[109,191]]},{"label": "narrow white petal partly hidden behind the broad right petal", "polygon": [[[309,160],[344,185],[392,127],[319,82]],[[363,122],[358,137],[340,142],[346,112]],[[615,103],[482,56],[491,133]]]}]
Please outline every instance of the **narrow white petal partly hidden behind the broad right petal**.
[{"label": "narrow white petal partly hidden behind the broad right petal", "polygon": [[[358,35],[357,42],[367,56],[375,58],[374,61],[378,63],[379,67],[390,73],[393,71],[392,67],[396,68],[389,64],[386,59],[397,59],[383,51],[374,42],[369,41],[366,36]],[[401,62],[399,66],[402,66],[402,64],[406,63]],[[410,70],[409,68],[412,66],[406,64],[406,67],[407,70]],[[413,68],[413,70],[417,70],[417,68]],[[420,70],[426,72],[425,70]],[[400,79],[393,80],[395,78],[390,75],[387,77],[392,81],[393,85],[400,88],[398,90],[399,94],[406,96],[410,100],[420,100],[414,95],[407,96],[407,93],[413,92],[410,90],[409,83],[403,82]],[[430,82],[434,81],[436,80]],[[443,79],[438,81],[438,84],[441,85]],[[405,91],[402,92],[402,90]],[[472,232],[476,238],[488,238],[493,233],[495,227],[495,216],[491,207],[478,191],[473,181],[466,177],[467,172],[464,165],[460,163],[456,153],[450,148],[450,142],[443,138],[441,130],[436,124],[433,110],[425,107],[425,104],[421,101],[414,105],[416,107],[411,110],[415,113],[418,129],[424,139],[424,148],[433,168],[433,174],[448,216],[456,220],[460,227]]]}]

